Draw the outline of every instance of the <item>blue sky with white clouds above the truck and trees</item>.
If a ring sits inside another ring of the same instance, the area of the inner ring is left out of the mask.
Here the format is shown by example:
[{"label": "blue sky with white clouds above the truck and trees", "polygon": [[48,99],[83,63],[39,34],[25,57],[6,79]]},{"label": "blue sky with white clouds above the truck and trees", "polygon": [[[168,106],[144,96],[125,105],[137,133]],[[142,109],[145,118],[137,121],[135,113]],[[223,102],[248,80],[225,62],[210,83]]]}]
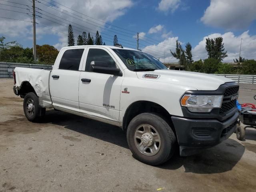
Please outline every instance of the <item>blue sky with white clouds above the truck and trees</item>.
[{"label": "blue sky with white clouds above the truck and trees", "polygon": [[[222,36],[228,57],[256,59],[256,0],[36,0],[36,43],[67,46],[68,24],[75,41],[98,30],[106,45],[116,34],[124,47],[177,62],[176,40],[190,42],[194,61],[207,58],[206,38]],[[32,1],[0,0],[0,36],[32,47]],[[4,17],[4,18],[3,18]],[[16,19],[16,20],[13,20]]]}]

